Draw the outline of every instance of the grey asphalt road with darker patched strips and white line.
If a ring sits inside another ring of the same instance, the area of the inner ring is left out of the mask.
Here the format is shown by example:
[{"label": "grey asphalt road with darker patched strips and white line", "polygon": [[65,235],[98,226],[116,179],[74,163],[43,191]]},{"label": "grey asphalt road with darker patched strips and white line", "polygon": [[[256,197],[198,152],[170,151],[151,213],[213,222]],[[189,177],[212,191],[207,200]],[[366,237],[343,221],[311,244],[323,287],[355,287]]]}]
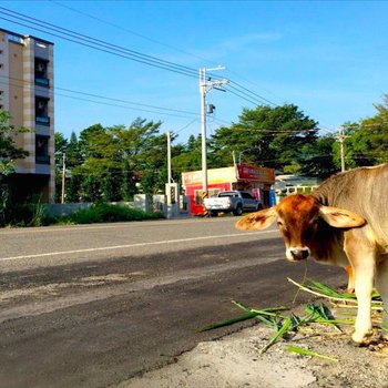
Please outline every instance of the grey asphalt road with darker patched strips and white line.
[{"label": "grey asphalt road with darker patched strips and white line", "polygon": [[[276,231],[235,221],[1,229],[0,387],[114,386],[239,329],[198,331],[241,314],[231,299],[292,307],[286,277],[305,266],[285,261]],[[308,275],[346,280],[314,264]]]}]

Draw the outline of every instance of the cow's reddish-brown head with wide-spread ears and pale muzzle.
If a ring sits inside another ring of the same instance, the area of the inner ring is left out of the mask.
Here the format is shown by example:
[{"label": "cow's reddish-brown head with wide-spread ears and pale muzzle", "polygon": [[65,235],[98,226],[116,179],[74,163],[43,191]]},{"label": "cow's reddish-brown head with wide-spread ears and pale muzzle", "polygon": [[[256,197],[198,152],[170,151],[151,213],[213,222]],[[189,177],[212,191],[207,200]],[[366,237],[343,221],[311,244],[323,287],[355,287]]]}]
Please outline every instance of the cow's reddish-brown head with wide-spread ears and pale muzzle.
[{"label": "cow's reddish-brown head with wide-spread ears and pale muzzle", "polygon": [[310,255],[310,246],[317,237],[320,222],[339,228],[358,227],[366,223],[358,214],[324,206],[312,195],[294,194],[274,207],[243,217],[236,223],[236,227],[241,231],[261,231],[275,221],[286,244],[286,257],[292,262]]}]

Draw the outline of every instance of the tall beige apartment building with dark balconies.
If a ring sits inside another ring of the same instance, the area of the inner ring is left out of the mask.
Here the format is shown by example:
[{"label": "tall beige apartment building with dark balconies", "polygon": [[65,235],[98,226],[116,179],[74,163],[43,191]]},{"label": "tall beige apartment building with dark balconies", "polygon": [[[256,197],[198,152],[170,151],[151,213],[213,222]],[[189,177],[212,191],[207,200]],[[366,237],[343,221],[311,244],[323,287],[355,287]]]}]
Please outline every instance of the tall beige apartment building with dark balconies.
[{"label": "tall beige apartment building with dark balconies", "polygon": [[0,109],[28,129],[16,144],[29,152],[11,176],[19,196],[54,198],[53,43],[0,29]]}]

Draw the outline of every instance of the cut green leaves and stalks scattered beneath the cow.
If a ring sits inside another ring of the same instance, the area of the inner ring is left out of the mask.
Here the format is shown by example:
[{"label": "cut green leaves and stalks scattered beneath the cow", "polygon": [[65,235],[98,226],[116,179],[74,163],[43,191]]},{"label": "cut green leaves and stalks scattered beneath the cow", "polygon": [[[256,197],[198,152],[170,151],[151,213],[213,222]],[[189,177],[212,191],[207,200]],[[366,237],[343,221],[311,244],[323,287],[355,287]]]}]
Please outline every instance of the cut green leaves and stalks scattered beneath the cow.
[{"label": "cut green leaves and stalks scattered beneath the cow", "polygon": [[[304,284],[298,284],[288,278],[288,282],[298,287],[298,292],[307,292],[320,300],[308,303],[304,306],[304,315],[296,315],[285,306],[276,306],[269,308],[252,308],[242,303],[232,300],[232,303],[244,312],[234,318],[224,319],[221,321],[208,324],[202,327],[201,331],[214,330],[219,327],[229,326],[247,319],[256,319],[257,321],[268,326],[274,330],[273,336],[261,348],[259,354],[267,351],[277,341],[286,341],[290,345],[287,347],[289,353],[296,353],[300,356],[318,357],[330,361],[338,361],[333,357],[320,355],[295,346],[300,336],[298,334],[307,333],[308,336],[315,337],[331,337],[334,334],[349,335],[347,327],[355,325],[357,298],[355,294],[339,293],[319,282],[306,280]],[[297,294],[296,294],[297,295]],[[323,303],[321,299],[326,299]],[[329,304],[329,306],[328,306]],[[374,324],[379,329],[386,330],[382,325],[382,302],[377,292],[374,292],[371,299],[371,308],[374,312]],[[336,317],[333,312],[336,312]],[[293,339],[297,339],[296,341]],[[376,351],[375,343],[371,341],[371,351]]]}]

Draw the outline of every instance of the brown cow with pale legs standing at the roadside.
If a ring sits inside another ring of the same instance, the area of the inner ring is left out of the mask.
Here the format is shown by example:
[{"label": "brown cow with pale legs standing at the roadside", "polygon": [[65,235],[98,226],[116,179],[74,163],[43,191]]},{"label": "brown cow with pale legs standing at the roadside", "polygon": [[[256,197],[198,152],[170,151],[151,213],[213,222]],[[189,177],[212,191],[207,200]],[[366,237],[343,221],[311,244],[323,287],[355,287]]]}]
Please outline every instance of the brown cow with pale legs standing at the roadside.
[{"label": "brown cow with pale legs standing at the roadside", "polygon": [[334,175],[312,195],[289,195],[274,207],[243,217],[236,227],[258,231],[275,221],[288,261],[312,256],[324,264],[351,266],[358,300],[353,339],[365,341],[371,329],[374,284],[388,304],[388,163]]}]

